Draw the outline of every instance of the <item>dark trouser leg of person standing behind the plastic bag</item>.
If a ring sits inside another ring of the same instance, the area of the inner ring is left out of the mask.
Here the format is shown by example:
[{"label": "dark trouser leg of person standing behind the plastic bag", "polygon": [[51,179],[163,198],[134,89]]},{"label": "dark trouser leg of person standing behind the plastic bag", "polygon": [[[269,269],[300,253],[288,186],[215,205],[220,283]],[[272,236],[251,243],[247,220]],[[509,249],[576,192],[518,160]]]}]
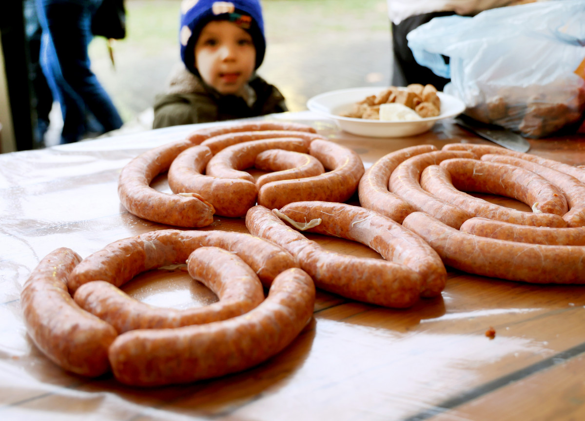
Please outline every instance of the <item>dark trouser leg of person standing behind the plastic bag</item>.
[{"label": "dark trouser leg of person standing behind the plastic bag", "polygon": [[[406,36],[411,30],[418,28],[429,20],[438,16],[450,16],[455,12],[433,12],[425,15],[411,16],[395,25],[392,23],[393,46],[393,73],[392,84],[394,86],[406,86],[411,83],[432,84],[437,90],[442,91],[449,82],[441,76],[437,76],[431,69],[421,66],[412,56],[408,48]],[[446,57],[448,60],[448,57]]]}]

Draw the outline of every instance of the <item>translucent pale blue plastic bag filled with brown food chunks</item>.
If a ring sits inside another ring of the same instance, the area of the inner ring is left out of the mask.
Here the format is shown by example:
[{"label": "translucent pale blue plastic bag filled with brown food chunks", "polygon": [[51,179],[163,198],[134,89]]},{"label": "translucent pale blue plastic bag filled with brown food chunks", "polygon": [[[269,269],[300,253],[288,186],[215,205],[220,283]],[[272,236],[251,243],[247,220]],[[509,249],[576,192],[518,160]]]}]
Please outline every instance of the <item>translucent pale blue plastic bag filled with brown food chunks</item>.
[{"label": "translucent pale blue plastic bag filled with brown food chunks", "polygon": [[450,78],[445,93],[479,121],[541,138],[574,132],[585,117],[583,0],[434,18],[407,40],[417,62]]}]

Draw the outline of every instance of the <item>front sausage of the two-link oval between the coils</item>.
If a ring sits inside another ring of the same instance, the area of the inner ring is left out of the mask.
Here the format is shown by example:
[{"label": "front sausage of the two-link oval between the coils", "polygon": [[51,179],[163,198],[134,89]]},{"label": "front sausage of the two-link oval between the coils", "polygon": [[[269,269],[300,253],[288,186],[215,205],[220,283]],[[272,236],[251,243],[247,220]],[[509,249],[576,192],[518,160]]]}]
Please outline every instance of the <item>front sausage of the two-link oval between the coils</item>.
[{"label": "front sausage of the two-link oval between the coils", "polygon": [[409,307],[419,299],[421,276],[405,265],[327,251],[287,227],[263,206],[250,208],[246,227],[254,235],[276,242],[296,256],[301,268],[321,289],[386,307]]}]

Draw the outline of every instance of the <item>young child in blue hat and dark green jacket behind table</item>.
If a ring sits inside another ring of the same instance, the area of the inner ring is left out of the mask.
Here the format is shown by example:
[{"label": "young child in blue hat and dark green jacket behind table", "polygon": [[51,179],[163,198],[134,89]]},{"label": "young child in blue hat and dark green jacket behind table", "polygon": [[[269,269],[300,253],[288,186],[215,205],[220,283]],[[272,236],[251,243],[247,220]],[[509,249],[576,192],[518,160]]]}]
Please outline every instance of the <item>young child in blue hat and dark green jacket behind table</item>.
[{"label": "young child in blue hat and dark green jacket behind table", "polygon": [[287,111],[255,73],[266,49],[259,0],[183,0],[180,45],[184,67],[157,95],[153,128]]}]

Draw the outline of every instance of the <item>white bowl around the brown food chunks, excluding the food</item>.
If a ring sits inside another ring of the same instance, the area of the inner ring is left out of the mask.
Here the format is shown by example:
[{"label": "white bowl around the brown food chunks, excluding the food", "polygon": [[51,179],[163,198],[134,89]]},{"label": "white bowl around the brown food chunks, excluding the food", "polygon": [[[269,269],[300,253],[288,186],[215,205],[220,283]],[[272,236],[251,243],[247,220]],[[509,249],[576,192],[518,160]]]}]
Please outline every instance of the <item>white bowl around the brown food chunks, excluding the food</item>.
[{"label": "white bowl around the brown food chunks, excluding the food", "polygon": [[424,133],[443,118],[455,117],[465,110],[465,104],[459,98],[438,92],[441,100],[441,114],[437,117],[422,118],[415,121],[379,121],[363,118],[342,117],[349,112],[353,104],[370,95],[378,95],[384,87],[349,88],[316,95],[307,101],[307,108],[324,117],[335,120],[340,129],[354,135],[374,138],[397,138]]}]

